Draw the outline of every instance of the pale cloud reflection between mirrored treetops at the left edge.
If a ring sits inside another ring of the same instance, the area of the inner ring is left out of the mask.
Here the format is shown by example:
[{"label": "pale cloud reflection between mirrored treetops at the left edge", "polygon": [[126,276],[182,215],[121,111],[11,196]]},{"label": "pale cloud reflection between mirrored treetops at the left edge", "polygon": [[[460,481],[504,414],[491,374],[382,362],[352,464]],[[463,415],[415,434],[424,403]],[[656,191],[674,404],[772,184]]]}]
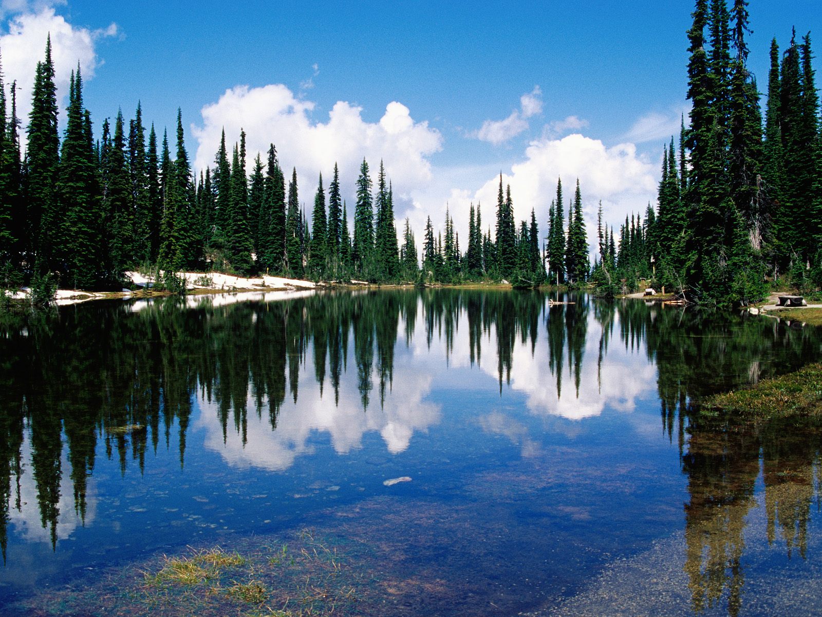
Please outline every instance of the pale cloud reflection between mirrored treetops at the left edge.
[{"label": "pale cloud reflection between mirrored treetops at the left edge", "polygon": [[[23,461],[32,460],[30,435],[27,432],[23,436],[21,455]],[[68,462],[65,449],[61,455],[60,468],[62,470],[62,476],[60,478],[60,500],[57,504],[60,513],[57,522],[57,537],[58,540],[65,540],[68,536],[72,535],[77,527],[82,527],[83,525],[80,515],[76,513],[74,509],[74,486],[72,485],[72,479],[70,477],[72,466]],[[20,477],[20,510],[16,509],[15,500],[16,496],[13,496],[12,503],[9,504],[8,517],[9,522],[12,523],[16,531],[26,541],[50,543],[51,528],[43,527],[40,518],[34,466],[31,464],[23,465]],[[95,511],[97,509],[97,495],[95,494],[94,484],[91,478],[88,479],[86,486],[85,503],[85,522],[88,524],[94,522]]]}]

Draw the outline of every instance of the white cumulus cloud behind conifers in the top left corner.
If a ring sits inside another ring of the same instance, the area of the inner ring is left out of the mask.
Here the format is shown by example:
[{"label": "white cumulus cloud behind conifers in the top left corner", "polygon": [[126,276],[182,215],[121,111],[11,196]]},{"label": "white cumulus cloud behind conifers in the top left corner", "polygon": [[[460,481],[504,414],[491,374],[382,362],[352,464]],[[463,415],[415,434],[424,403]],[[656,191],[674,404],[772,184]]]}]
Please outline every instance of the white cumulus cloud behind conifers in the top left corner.
[{"label": "white cumulus cloud behind conifers in the top left corner", "polygon": [[52,42],[54,81],[63,108],[72,70],[79,63],[84,80],[94,77],[101,64],[95,45],[99,39],[118,33],[116,24],[101,30],[73,26],[48,6],[56,3],[2,2],[5,15],[13,12],[6,24],[7,33],[0,36],[2,71],[7,84],[17,82],[17,116],[24,125],[31,109],[35,68],[44,58],[48,35]]}]

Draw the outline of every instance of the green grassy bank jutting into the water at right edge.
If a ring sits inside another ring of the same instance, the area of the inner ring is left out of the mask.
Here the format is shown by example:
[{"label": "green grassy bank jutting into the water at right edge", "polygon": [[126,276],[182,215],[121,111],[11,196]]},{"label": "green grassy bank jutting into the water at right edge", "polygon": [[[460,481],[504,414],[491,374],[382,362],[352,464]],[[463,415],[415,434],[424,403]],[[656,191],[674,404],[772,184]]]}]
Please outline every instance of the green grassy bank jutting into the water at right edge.
[{"label": "green grassy bank jutting into the water at right edge", "polygon": [[822,364],[764,379],[755,386],[702,401],[703,412],[724,410],[753,419],[822,415]]}]

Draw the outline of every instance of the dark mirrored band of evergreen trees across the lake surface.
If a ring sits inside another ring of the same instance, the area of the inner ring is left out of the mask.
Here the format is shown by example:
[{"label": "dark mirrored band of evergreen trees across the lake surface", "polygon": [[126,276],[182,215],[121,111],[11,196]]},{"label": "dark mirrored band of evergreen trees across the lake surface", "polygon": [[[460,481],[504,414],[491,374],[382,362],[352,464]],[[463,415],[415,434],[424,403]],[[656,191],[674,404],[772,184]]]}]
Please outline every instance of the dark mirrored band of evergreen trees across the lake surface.
[{"label": "dark mirrored band of evergreen trees across the lake surface", "polygon": [[[249,410],[261,417],[267,409],[270,425],[276,429],[286,398],[290,394],[297,400],[301,373],[303,378],[313,374],[326,399],[330,392],[323,387],[328,379],[336,404],[349,353],[363,408],[372,401],[375,381],[382,404],[390,396],[398,337],[404,336],[410,345],[418,325],[424,327],[428,345],[435,339],[442,341],[450,357],[458,324],[467,323],[472,363],[481,359],[483,338],[493,339],[500,387],[510,381],[515,347],[527,349],[530,342],[533,354],[544,329],[548,365],[559,394],[566,363],[579,391],[593,313],[602,326],[599,365],[609,341],[613,345],[617,336],[626,348],[644,348],[658,367],[664,425],[672,432],[678,420],[681,443],[691,398],[760,375],[769,377],[776,367],[795,368],[819,348],[819,336],[810,328],[789,330],[777,322],[649,308],[640,302],[567,299],[575,304],[547,306],[546,296],[538,291],[381,290],[220,307],[204,299],[196,308],[186,309],[181,306],[184,300],[164,299],[136,312],[128,304],[99,303],[63,308],[50,316],[4,318],[0,323],[0,546],[5,554],[8,508],[21,507],[15,484],[19,485],[24,467],[24,430],[30,433],[41,522],[55,541],[60,480],[64,474],[71,478],[76,513],[83,519],[98,448],[126,473],[130,459],[142,471],[147,451],[156,452],[163,440],[169,448],[176,440],[182,465],[197,394],[215,402],[224,440],[233,431],[245,443]],[[465,320],[460,323],[463,313]],[[311,367],[306,366],[308,355]],[[792,462],[792,450],[780,449],[775,440],[769,447],[778,453],[766,457],[765,465],[771,536],[775,538],[779,530],[790,547],[797,546],[804,554],[812,478],[806,466]],[[704,452],[693,436],[689,448],[689,453]],[[723,448],[729,452],[728,461],[741,456],[737,452],[741,445]],[[699,467],[695,461],[693,465]],[[698,474],[692,482],[699,494]],[[709,486],[706,482],[701,485]],[[700,499],[713,503],[708,496]],[[700,499],[693,502],[695,511],[707,507],[700,506]]]}]

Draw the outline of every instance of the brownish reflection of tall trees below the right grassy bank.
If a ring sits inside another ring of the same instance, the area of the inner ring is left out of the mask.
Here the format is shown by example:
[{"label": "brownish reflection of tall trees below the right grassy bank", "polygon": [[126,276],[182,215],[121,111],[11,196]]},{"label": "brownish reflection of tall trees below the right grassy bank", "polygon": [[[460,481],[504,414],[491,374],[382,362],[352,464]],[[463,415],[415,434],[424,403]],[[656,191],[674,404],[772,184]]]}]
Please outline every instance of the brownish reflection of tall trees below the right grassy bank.
[{"label": "brownish reflection of tall trees below the right grassy bank", "polygon": [[686,573],[692,608],[704,610],[727,592],[727,610],[738,615],[745,582],[746,517],[755,508],[755,483],[763,459],[764,501],[769,543],[782,531],[788,556],[806,556],[810,505],[819,499],[822,421],[772,420],[764,427],[735,420],[691,419],[682,457],[688,475]]}]

